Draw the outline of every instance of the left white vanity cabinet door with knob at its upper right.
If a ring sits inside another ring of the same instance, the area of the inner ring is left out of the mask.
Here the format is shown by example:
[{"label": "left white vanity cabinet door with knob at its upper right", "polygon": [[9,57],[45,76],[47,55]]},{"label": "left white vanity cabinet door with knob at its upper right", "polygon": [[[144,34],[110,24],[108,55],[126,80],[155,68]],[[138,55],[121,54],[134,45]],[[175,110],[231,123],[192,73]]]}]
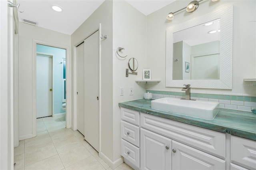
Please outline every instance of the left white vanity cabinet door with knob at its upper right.
[{"label": "left white vanity cabinet door with knob at its upper right", "polygon": [[142,170],[170,170],[172,168],[172,140],[140,128],[140,168]]}]

